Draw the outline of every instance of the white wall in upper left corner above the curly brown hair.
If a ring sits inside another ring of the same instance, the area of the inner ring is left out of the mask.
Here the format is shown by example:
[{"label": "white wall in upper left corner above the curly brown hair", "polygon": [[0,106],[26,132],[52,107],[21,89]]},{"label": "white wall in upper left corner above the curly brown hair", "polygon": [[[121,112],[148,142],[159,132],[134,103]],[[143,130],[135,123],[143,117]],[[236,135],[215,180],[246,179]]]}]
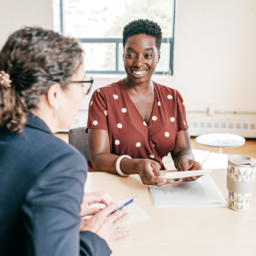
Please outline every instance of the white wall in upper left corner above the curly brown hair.
[{"label": "white wall in upper left corner above the curly brown hair", "polygon": [[22,26],[53,29],[52,0],[1,0],[0,49],[12,32]]}]

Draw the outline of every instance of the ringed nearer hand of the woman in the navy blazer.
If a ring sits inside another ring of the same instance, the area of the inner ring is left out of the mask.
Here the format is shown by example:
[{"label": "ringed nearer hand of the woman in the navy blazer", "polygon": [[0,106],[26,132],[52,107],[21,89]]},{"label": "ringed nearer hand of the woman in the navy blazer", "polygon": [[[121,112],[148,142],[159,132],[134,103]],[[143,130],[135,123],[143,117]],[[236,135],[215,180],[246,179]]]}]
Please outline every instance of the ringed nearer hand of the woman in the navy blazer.
[{"label": "ringed nearer hand of the woman in the navy blazer", "polygon": [[129,212],[126,209],[109,215],[117,208],[118,205],[113,203],[96,212],[92,218],[82,219],[79,231],[93,232],[107,241],[108,245],[112,241],[131,236],[131,231],[115,232],[119,229],[119,225],[124,224],[130,217]]}]

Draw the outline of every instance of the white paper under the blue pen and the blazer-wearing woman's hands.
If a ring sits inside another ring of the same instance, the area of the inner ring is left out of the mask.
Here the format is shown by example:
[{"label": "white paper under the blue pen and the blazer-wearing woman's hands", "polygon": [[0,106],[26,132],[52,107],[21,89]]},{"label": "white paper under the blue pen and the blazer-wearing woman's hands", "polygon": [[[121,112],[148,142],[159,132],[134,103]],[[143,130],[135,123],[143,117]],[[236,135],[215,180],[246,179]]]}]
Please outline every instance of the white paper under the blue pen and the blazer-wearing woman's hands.
[{"label": "white paper under the blue pen and the blazer-wearing woman's hands", "polygon": [[[130,200],[131,199],[123,199],[123,200],[119,200],[119,201],[115,201],[115,202],[119,205],[119,207],[121,207],[122,205],[124,205],[125,202],[130,201]],[[103,205],[103,204],[93,204],[90,207],[104,208],[105,205]],[[125,223],[131,223],[131,222],[151,218],[148,215],[148,213],[144,212],[143,209],[141,207],[139,207],[135,202],[132,202],[129,206],[124,207],[124,208],[127,209],[130,213],[130,218]],[[91,216],[86,216],[84,218],[91,218]]]}]

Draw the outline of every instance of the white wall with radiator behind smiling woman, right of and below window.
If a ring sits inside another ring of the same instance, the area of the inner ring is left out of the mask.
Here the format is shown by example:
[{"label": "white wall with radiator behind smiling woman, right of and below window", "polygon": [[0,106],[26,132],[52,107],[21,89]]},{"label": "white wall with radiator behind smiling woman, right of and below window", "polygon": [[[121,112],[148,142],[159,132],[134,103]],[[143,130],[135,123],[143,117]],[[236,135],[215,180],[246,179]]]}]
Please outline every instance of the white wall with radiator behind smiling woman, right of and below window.
[{"label": "white wall with radiator behind smiling woman, right of and below window", "polygon": [[[154,81],[180,91],[190,134],[256,137],[256,1],[177,0],[175,25],[174,74]],[[97,76],[94,89],[121,78]],[[81,108],[85,119],[89,100]],[[198,113],[210,104],[219,111],[254,114]],[[208,123],[212,128],[206,129]]]}]

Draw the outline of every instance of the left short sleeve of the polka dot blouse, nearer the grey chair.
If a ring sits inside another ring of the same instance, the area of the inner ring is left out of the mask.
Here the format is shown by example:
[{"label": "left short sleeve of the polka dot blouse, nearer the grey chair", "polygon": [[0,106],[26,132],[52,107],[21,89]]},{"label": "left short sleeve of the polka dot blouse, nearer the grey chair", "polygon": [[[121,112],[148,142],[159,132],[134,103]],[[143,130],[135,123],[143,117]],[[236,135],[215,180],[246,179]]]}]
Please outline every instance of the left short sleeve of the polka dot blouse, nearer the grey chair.
[{"label": "left short sleeve of the polka dot blouse, nearer the grey chair", "polygon": [[108,108],[102,90],[96,90],[91,96],[87,121],[88,128],[108,130]]}]

